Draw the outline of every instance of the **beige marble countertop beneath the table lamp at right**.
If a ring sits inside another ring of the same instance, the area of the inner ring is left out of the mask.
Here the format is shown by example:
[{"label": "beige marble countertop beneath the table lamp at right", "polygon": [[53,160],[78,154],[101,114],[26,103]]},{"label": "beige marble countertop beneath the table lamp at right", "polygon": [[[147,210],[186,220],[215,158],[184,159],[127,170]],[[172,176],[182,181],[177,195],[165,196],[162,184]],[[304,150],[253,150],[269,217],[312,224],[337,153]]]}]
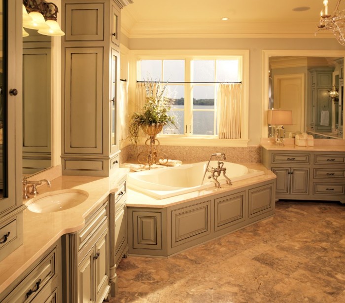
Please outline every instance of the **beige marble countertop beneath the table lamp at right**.
[{"label": "beige marble countertop beneath the table lamp at right", "polygon": [[345,140],[314,139],[314,146],[297,146],[295,139],[285,139],[283,146],[275,145],[273,138],[261,138],[260,145],[269,151],[345,151]]}]

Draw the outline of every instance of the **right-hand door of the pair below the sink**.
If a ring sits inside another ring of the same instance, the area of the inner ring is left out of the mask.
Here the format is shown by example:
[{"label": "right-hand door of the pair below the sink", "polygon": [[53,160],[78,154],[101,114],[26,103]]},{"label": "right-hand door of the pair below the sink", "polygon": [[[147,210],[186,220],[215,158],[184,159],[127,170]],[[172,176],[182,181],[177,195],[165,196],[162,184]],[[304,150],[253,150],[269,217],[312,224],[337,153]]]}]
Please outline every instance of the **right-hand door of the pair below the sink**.
[{"label": "right-hand door of the pair below the sink", "polygon": [[95,278],[96,278],[96,301],[99,302],[99,296],[103,294],[104,286],[109,281],[109,240],[108,229],[96,243],[95,262]]}]

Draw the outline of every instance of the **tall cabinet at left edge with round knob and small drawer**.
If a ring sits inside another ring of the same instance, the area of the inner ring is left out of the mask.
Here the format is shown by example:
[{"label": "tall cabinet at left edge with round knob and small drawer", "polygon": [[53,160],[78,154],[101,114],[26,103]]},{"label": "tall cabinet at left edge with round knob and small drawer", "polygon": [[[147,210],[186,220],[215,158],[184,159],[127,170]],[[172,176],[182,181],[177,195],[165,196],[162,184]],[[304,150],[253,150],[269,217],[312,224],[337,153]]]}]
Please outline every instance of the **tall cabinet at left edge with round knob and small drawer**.
[{"label": "tall cabinet at left edge with round knob and small drawer", "polygon": [[[5,5],[6,4],[6,5]],[[22,2],[1,1],[5,28],[1,25],[1,180],[0,184],[0,261],[23,243],[22,200]],[[5,31],[7,30],[7,32]],[[7,39],[7,36],[10,38]],[[2,58],[1,58],[2,59]],[[4,67],[3,73],[2,66]],[[6,113],[6,114],[4,114]],[[17,118],[16,118],[17,117]]]}]

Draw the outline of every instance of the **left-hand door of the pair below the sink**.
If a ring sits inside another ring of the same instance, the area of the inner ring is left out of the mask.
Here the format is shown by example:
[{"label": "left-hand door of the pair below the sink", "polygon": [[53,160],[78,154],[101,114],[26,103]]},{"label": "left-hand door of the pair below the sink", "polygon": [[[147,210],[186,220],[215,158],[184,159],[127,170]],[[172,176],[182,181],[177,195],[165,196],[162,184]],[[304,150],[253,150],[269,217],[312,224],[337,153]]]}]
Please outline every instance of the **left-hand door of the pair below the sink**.
[{"label": "left-hand door of the pair below the sink", "polygon": [[78,266],[78,302],[94,302],[94,257],[92,249]]}]

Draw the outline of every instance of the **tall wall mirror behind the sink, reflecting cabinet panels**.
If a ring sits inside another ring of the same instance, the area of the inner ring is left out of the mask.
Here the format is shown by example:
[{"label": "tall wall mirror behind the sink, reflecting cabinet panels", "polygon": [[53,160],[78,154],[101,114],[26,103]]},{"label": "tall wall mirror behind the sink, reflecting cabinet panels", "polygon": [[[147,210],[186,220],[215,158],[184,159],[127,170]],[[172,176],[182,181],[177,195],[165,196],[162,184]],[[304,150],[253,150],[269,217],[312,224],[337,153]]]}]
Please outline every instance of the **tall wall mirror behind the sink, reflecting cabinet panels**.
[{"label": "tall wall mirror behind the sink, reflecting cabinet panels", "polygon": [[25,29],[23,37],[23,175],[52,166],[52,38]]}]

